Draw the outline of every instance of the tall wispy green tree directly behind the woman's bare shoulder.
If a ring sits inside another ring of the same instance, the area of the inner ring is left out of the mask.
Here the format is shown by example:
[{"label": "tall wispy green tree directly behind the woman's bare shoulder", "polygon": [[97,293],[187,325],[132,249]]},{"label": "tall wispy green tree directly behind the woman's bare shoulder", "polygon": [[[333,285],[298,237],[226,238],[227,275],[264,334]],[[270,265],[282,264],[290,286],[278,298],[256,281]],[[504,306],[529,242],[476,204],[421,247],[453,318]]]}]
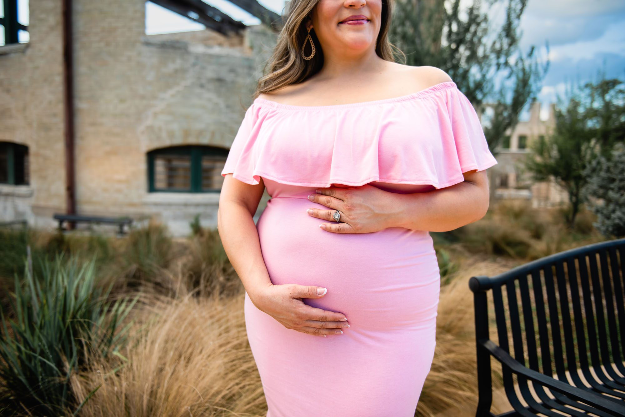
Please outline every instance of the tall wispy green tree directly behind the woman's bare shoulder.
[{"label": "tall wispy green tree directly behind the woman's bare shoulder", "polygon": [[[488,12],[498,3],[504,1],[474,0],[461,10],[459,0],[397,0],[389,27],[389,39],[405,53],[406,64],[442,69],[478,113],[491,107],[482,127],[495,157],[506,131],[514,129],[526,104],[536,100],[539,79],[549,68],[548,59],[540,68],[534,46],[526,56],[519,50],[518,26],[527,0],[507,0],[504,22],[493,27]],[[548,43],[546,49],[548,54]],[[498,76],[510,81],[495,86]]]}]

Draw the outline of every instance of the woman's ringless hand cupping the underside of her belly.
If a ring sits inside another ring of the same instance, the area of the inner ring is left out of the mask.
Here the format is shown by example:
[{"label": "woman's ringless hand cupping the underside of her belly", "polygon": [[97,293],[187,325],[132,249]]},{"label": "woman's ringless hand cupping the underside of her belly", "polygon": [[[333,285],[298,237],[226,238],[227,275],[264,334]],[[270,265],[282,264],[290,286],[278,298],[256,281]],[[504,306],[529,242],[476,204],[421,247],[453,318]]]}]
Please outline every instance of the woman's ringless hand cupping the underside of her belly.
[{"label": "woman's ringless hand cupping the underside of her belly", "polygon": [[[317,289],[322,295],[317,294]],[[312,307],[302,301],[302,298],[321,298],[326,293],[326,288],[315,285],[271,284],[251,300],[259,310],[288,329],[314,336],[340,335],[341,328],[349,327],[345,315]]]}]

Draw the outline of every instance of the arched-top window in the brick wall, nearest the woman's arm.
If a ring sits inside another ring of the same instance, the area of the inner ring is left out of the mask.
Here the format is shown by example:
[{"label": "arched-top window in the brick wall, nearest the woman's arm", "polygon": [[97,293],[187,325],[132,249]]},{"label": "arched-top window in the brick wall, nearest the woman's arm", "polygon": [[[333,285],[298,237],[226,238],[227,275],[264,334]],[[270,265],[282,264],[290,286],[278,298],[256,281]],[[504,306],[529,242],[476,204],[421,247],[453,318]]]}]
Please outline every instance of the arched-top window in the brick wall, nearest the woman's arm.
[{"label": "arched-top window in the brick wall, nearest the woman's arm", "polygon": [[219,192],[228,150],[183,145],[148,152],[150,192]]}]

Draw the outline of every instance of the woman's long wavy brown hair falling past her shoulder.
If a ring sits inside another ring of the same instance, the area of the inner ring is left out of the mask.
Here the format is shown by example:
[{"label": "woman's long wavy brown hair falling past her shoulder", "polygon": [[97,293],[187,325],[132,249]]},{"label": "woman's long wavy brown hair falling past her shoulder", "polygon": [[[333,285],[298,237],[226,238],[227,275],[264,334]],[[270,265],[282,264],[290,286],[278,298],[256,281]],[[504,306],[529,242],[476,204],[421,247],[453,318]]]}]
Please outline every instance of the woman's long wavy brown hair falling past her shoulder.
[{"label": "woman's long wavy brown hair falling past her shoulder", "polygon": [[[286,14],[286,22],[278,34],[276,47],[265,67],[269,67],[269,72],[258,80],[252,99],[256,99],[260,94],[275,91],[284,86],[298,84],[321,70],[323,66],[323,51],[314,28],[311,29],[310,35],[312,42],[314,42],[316,53],[309,60],[304,59],[301,54],[302,45],[308,36],[304,23],[318,1],[291,0]],[[377,35],[376,54],[386,61],[395,62],[392,54],[393,49],[398,51],[401,56],[405,57],[405,55],[391,44],[387,37],[391,23],[392,2],[394,0],[382,0],[381,25],[380,32]],[[310,41],[306,42],[310,43]],[[309,48],[306,49],[308,50]]]}]

